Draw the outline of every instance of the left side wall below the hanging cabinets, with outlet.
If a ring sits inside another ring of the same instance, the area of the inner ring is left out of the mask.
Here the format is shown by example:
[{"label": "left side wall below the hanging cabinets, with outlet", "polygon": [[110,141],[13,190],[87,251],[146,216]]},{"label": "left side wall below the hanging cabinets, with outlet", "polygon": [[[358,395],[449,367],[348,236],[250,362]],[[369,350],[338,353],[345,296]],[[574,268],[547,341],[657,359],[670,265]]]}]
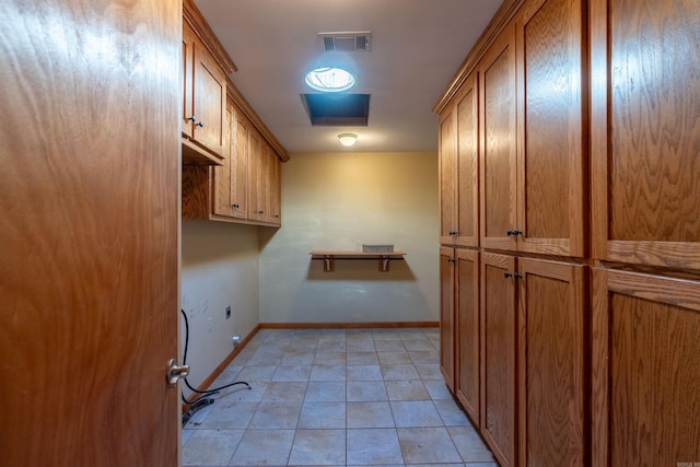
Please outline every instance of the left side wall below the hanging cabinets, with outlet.
[{"label": "left side wall below the hanging cabinets, with outlet", "polygon": [[[188,381],[194,387],[231,353],[234,334],[245,338],[258,324],[257,231],[253,225],[183,221],[182,306],[189,320]],[[184,324],[180,329],[184,349]]]}]

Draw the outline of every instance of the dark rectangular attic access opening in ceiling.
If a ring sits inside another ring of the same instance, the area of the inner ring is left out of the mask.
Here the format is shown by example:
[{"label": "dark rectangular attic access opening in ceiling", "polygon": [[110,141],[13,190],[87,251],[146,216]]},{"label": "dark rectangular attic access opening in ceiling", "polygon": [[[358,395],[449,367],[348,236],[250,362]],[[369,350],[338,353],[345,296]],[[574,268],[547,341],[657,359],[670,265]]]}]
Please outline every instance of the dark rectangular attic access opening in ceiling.
[{"label": "dark rectangular attic access opening in ceiling", "polygon": [[302,94],[312,126],[366,127],[370,94]]}]

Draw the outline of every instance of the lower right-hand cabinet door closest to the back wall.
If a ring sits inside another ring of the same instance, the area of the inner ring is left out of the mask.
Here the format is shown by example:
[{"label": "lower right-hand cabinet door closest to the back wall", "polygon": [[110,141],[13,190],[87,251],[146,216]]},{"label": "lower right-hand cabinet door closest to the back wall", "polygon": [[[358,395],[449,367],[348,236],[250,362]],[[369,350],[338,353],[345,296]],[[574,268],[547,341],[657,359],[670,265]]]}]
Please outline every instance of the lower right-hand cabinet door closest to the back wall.
[{"label": "lower right-hand cabinet door closest to the back wall", "polygon": [[455,250],[440,248],[440,371],[455,389]]}]

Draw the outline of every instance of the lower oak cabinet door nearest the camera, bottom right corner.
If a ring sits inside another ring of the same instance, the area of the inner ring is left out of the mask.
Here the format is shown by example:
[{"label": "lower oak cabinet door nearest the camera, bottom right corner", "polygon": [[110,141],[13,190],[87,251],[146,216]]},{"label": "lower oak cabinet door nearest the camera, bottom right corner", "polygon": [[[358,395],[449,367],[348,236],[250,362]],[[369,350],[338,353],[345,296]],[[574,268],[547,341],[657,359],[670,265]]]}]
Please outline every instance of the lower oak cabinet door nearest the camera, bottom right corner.
[{"label": "lower oak cabinet door nearest the camera, bottom right corner", "polygon": [[700,459],[700,282],[593,275],[593,463]]}]

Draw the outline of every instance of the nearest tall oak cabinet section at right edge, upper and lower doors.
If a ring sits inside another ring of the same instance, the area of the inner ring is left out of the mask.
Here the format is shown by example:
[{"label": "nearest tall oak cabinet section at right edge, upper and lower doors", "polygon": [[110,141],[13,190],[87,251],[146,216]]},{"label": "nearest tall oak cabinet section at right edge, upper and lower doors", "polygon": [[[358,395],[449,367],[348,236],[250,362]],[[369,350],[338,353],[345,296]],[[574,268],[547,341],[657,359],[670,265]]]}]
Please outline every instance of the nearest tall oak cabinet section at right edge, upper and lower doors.
[{"label": "nearest tall oak cabinet section at right edge, upper and lower doors", "polygon": [[700,462],[700,16],[591,1],[593,465]]}]

